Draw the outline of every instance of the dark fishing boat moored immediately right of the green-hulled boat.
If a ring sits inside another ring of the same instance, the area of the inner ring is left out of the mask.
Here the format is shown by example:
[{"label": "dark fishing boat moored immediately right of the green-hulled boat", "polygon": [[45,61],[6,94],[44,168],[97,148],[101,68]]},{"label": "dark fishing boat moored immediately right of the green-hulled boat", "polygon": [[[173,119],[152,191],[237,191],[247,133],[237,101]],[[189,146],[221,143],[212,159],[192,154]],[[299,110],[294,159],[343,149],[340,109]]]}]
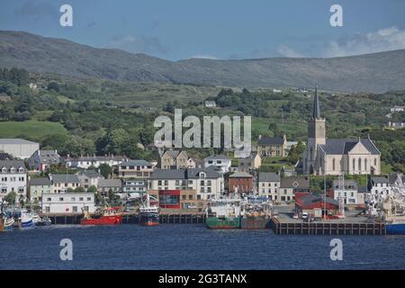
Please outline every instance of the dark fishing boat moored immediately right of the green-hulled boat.
[{"label": "dark fishing boat moored immediately right of the green-hulled boat", "polygon": [[271,202],[266,198],[250,197],[242,203],[241,229],[266,229],[271,218]]}]

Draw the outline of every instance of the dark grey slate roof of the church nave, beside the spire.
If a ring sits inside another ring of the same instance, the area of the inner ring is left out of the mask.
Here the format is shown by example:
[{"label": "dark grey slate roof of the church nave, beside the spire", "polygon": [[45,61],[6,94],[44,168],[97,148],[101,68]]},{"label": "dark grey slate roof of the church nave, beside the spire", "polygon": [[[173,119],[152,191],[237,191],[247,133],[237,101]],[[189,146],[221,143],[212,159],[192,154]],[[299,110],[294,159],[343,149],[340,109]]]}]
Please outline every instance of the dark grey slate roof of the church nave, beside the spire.
[{"label": "dark grey slate roof of the church nave, beside the spire", "polygon": [[320,145],[320,148],[326,154],[344,155],[354,148],[359,140],[372,155],[380,154],[371,139],[326,139],[326,144]]}]

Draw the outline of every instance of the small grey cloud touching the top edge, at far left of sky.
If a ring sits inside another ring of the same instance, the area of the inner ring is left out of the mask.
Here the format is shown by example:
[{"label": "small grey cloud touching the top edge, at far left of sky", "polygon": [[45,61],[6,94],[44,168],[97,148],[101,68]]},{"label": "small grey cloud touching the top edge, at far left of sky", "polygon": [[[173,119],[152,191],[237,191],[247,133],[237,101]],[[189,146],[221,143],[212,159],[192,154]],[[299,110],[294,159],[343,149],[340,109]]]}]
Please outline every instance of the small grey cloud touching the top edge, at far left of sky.
[{"label": "small grey cloud touching the top edge, at far left of sky", "polygon": [[43,17],[58,18],[58,8],[45,1],[27,1],[21,7],[15,9],[14,15],[32,17],[35,20],[40,20]]}]

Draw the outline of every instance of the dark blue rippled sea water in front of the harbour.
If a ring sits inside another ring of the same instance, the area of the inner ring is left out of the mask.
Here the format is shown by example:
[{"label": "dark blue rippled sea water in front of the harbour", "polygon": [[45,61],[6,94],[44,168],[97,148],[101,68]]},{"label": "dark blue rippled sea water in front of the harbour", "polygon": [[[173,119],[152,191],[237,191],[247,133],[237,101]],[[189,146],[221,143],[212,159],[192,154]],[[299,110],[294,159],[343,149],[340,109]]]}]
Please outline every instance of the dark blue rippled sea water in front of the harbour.
[{"label": "dark blue rippled sea water in front of the harbour", "polygon": [[[59,242],[73,241],[61,261]],[[0,233],[0,269],[405,269],[405,236],[346,236],[330,260],[330,236],[277,236],[271,230],[210,230],[164,224],[54,225]]]}]

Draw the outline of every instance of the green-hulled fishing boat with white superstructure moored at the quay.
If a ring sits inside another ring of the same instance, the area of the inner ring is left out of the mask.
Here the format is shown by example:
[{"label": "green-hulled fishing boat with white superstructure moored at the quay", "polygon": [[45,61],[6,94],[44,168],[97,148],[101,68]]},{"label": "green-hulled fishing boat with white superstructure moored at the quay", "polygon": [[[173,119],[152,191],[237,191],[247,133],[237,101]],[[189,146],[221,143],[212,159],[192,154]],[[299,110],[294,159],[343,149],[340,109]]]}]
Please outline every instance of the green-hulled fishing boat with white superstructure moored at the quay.
[{"label": "green-hulled fishing boat with white superstructure moored at the quay", "polygon": [[240,229],[240,202],[238,196],[211,199],[206,211],[207,228]]}]

